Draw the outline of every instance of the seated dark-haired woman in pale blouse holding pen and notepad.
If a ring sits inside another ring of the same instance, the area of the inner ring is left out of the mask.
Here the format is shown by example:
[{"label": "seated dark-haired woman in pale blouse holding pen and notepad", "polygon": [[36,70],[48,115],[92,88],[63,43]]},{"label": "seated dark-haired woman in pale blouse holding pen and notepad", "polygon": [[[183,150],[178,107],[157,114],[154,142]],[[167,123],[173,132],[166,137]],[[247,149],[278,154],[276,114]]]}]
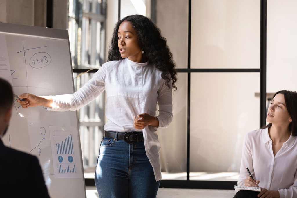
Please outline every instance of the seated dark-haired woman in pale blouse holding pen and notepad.
[{"label": "seated dark-haired woman in pale blouse holding pen and notepad", "polygon": [[275,93],[266,121],[267,126],[244,138],[237,182],[240,186],[260,186],[261,192],[240,190],[234,198],[297,197],[297,92]]}]

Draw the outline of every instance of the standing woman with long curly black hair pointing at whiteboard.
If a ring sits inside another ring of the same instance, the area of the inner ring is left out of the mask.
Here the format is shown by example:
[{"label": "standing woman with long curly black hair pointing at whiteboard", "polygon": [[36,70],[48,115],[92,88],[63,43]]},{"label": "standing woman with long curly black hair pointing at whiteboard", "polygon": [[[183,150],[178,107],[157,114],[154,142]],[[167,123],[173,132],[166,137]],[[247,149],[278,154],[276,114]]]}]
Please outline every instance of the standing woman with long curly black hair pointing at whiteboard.
[{"label": "standing woman with long curly black hair pointing at whiteboard", "polygon": [[[108,62],[73,94],[23,93],[23,108],[78,110],[106,90],[105,133],[95,184],[101,198],[154,198],[161,179],[160,143],[155,132],[172,121],[175,63],[166,39],[145,16],[131,15],[114,28]],[[156,106],[159,105],[159,115]]]}]

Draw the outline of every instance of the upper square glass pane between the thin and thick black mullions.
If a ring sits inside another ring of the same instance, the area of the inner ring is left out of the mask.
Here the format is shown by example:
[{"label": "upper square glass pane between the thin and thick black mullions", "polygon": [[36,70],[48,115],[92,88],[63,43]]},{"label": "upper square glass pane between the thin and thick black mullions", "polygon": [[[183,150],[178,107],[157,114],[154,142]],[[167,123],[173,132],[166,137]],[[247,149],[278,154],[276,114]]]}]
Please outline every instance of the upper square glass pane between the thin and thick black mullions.
[{"label": "upper square glass pane between the thin and thick black mullions", "polygon": [[200,0],[191,9],[191,68],[260,68],[260,1]]}]

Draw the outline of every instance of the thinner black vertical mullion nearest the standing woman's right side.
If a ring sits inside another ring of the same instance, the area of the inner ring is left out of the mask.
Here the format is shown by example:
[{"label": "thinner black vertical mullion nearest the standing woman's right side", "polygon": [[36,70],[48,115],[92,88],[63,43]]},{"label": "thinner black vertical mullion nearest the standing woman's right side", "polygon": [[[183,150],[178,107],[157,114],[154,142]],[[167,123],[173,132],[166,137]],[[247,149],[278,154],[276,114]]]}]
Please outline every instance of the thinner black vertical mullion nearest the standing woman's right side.
[{"label": "thinner black vertical mullion nearest the standing woman's right side", "polygon": [[[191,0],[189,0],[188,15],[188,70],[191,69]],[[191,73],[188,73],[188,105],[187,105],[187,181],[190,180],[190,95]]]}]

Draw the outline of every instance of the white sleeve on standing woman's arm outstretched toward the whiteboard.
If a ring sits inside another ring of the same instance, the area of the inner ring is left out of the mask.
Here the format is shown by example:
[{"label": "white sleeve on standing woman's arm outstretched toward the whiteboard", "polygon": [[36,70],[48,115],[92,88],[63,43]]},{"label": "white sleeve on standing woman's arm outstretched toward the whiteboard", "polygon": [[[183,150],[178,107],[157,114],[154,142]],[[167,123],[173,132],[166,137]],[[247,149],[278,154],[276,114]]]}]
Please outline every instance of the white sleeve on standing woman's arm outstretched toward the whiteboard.
[{"label": "white sleeve on standing woman's arm outstretched toward the whiteboard", "polygon": [[75,111],[89,104],[105,90],[106,63],[93,75],[82,88],[73,94],[52,96],[52,111]]}]

